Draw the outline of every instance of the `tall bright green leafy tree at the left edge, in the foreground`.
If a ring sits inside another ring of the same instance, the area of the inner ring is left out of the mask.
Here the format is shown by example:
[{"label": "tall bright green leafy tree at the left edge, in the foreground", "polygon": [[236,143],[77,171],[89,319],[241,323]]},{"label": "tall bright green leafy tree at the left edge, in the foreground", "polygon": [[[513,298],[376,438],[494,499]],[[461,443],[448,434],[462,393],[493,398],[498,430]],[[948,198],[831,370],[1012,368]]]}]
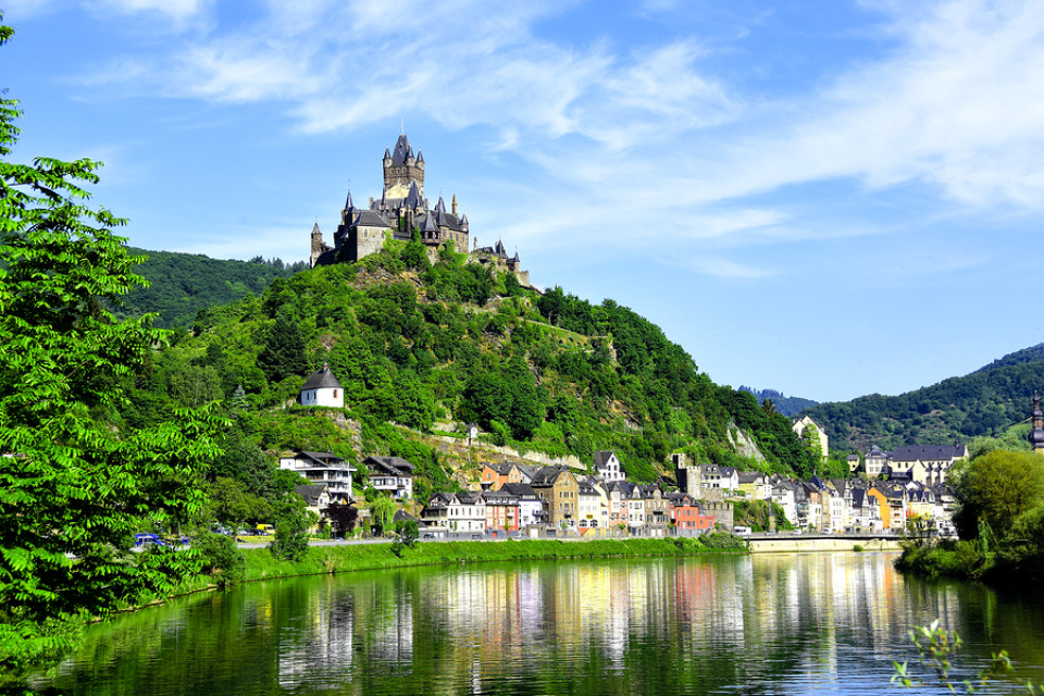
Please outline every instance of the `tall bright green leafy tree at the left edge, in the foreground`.
[{"label": "tall bright green leafy tree at the left edge, in the foreground", "polygon": [[[0,44],[12,35],[0,27]],[[0,99],[0,669],[70,649],[86,614],[162,594],[191,554],[130,554],[145,518],[167,529],[201,507],[217,452],[210,411],[121,426],[124,384],[165,332],[110,307],[140,285],[124,221],[91,210],[100,163],[9,161],[17,102]],[[46,434],[46,435],[45,435]],[[75,560],[73,560],[75,559]]]}]

